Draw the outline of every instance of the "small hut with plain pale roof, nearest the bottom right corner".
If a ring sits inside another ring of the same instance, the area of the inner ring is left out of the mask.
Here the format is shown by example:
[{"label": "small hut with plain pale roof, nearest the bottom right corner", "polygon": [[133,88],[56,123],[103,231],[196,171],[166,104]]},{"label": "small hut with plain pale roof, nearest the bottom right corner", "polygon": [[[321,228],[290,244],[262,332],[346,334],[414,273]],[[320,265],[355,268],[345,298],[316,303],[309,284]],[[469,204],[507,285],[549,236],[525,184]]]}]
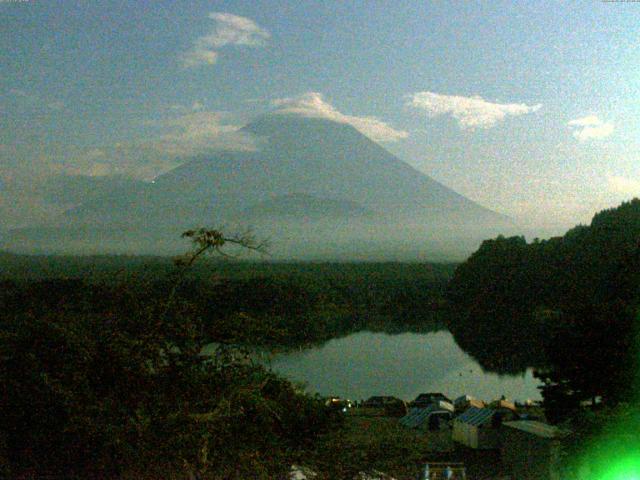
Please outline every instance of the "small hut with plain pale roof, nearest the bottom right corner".
[{"label": "small hut with plain pale roof, nearest the bottom right corner", "polygon": [[568,432],[533,420],[502,424],[504,467],[518,480],[560,480],[560,439]]}]

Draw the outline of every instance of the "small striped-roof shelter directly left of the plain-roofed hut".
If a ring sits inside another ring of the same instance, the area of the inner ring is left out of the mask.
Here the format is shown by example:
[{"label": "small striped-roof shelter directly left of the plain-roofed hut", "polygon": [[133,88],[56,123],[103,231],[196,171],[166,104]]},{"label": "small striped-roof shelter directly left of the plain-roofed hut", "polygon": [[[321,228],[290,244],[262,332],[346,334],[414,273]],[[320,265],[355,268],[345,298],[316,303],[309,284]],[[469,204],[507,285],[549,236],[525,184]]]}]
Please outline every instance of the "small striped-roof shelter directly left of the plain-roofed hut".
[{"label": "small striped-roof shelter directly left of the plain-roofed hut", "polygon": [[469,407],[453,420],[453,441],[478,450],[500,448],[500,416],[491,408]]}]

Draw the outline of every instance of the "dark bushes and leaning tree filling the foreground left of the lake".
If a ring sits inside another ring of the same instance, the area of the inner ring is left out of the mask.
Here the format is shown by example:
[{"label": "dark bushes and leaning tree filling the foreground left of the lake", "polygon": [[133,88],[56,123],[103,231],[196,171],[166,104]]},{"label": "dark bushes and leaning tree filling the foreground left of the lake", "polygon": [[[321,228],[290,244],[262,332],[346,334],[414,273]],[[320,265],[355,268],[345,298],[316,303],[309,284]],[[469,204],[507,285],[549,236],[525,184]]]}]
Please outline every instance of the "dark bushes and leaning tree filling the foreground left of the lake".
[{"label": "dark bushes and leaning tree filling the foreground left of the lake", "polygon": [[[187,263],[225,242],[202,238]],[[234,338],[202,355],[210,326],[183,279],[4,285],[3,477],[278,478],[339,421]]]}]

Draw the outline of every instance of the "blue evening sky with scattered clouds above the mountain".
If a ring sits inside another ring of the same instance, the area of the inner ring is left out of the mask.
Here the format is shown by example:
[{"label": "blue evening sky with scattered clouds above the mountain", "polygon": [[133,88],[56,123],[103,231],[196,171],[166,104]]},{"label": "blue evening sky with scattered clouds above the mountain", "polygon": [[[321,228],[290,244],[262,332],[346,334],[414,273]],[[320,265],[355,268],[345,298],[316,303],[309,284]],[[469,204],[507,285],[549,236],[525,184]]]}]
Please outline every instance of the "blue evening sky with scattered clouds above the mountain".
[{"label": "blue evening sky with scattered clouds above the mountain", "polygon": [[0,0],[0,188],[150,180],[282,111],[532,228],[640,196],[640,3]]}]

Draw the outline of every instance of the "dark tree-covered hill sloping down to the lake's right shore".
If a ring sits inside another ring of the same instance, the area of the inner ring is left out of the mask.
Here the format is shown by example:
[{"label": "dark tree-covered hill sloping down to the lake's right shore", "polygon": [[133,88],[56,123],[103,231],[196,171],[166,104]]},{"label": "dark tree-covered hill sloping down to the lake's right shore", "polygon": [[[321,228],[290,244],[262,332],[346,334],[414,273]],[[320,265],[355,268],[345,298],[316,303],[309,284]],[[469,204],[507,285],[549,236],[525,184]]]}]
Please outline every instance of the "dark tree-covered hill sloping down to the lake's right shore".
[{"label": "dark tree-covered hill sloping down to the lake's right shore", "polygon": [[485,366],[543,367],[559,420],[581,401],[632,398],[640,301],[640,200],[527,243],[485,241],[455,272],[450,328]]}]

